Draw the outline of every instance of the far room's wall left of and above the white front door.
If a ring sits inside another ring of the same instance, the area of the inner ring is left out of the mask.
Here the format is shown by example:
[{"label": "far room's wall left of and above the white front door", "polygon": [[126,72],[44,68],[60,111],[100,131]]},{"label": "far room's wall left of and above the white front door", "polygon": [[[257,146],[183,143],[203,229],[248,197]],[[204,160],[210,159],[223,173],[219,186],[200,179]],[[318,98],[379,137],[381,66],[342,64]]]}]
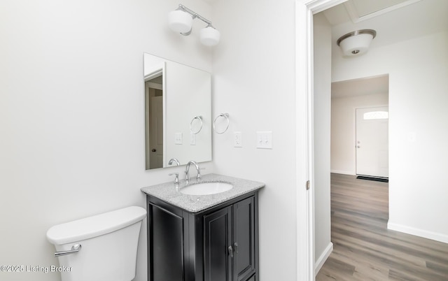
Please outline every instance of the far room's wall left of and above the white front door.
[{"label": "far room's wall left of and above the white front door", "polygon": [[387,105],[387,93],[331,99],[332,173],[356,175],[356,108]]}]

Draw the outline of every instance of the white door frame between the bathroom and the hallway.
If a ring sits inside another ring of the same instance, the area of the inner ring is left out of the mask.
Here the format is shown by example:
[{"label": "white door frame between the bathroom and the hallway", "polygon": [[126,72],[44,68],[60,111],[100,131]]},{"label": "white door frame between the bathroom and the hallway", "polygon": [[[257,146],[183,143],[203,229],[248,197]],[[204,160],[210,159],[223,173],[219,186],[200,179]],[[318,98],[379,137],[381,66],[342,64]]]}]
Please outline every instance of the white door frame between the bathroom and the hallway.
[{"label": "white door frame between the bathroom and the hallway", "polygon": [[[347,0],[295,0],[296,280],[314,276],[313,15]],[[307,190],[307,181],[311,182]]]}]

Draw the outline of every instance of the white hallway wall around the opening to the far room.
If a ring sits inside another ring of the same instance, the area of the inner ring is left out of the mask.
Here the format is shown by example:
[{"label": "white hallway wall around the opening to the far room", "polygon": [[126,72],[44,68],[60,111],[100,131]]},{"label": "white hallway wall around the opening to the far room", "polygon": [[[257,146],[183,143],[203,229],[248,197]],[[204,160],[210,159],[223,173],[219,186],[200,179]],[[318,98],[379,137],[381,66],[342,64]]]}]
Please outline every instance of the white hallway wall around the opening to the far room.
[{"label": "white hallway wall around the opening to the far room", "polygon": [[448,243],[448,34],[333,57],[332,80],[389,73],[391,229]]}]

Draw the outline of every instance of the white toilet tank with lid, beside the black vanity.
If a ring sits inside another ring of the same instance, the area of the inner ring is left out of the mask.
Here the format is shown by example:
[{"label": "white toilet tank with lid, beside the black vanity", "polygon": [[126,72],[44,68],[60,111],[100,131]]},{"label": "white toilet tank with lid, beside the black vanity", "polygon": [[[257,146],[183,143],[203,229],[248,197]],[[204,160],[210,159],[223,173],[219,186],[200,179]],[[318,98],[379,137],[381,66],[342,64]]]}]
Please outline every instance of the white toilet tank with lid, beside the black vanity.
[{"label": "white toilet tank with lid, beside the black vanity", "polygon": [[146,210],[128,207],[52,226],[47,238],[56,251],[62,281],[131,281],[135,277],[141,221]]}]

